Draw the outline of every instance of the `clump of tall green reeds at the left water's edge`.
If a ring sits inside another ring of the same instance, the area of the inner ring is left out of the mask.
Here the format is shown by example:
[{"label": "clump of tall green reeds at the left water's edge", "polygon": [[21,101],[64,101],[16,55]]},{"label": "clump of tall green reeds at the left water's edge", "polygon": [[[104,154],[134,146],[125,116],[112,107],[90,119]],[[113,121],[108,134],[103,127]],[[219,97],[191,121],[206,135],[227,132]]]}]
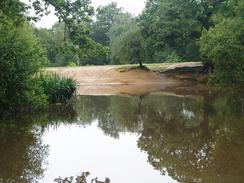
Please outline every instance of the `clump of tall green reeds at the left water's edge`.
[{"label": "clump of tall green reeds at the left water's edge", "polygon": [[57,74],[42,73],[36,79],[48,97],[49,103],[67,103],[77,89],[74,79]]}]

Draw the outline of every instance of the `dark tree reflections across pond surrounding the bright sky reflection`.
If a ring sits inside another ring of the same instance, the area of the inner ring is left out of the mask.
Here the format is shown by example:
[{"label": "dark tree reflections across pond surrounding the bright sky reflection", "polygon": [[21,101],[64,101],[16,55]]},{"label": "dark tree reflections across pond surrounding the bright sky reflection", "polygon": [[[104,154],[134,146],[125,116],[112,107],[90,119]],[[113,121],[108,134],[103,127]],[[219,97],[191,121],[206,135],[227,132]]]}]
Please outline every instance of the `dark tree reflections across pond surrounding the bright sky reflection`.
[{"label": "dark tree reflections across pond surrounding the bright sky reflection", "polygon": [[137,146],[154,169],[179,182],[244,180],[242,94],[79,96],[73,106],[27,119],[0,123],[0,182],[35,182],[44,176],[48,146],[41,137],[49,126],[94,121],[116,139],[137,134]]}]

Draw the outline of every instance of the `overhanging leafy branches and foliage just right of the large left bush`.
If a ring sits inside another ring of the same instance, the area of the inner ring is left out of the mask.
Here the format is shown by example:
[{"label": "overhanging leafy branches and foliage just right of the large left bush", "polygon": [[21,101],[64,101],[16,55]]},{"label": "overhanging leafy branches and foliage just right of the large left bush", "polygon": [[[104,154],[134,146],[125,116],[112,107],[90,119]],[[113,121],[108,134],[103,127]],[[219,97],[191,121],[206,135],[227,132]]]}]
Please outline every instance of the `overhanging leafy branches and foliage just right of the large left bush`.
[{"label": "overhanging leafy branches and foliage just right of the large left bush", "polygon": [[[37,30],[40,40],[44,37],[42,43],[48,50],[51,66],[66,66],[69,62],[94,64],[93,59],[97,63],[106,58],[105,48],[91,39],[88,29],[94,13],[90,0],[44,1],[47,6],[54,6],[59,18],[59,23],[52,30]],[[37,9],[44,11],[41,4]]]}]

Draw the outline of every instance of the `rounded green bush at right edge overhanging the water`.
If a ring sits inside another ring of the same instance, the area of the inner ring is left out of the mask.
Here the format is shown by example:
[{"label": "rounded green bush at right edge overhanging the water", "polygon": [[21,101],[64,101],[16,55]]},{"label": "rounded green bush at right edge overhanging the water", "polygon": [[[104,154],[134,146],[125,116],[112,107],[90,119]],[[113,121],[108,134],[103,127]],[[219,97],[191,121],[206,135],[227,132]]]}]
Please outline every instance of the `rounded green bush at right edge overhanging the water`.
[{"label": "rounded green bush at right edge overhanging the water", "polygon": [[223,20],[202,34],[201,53],[214,66],[211,80],[244,86],[244,20]]}]

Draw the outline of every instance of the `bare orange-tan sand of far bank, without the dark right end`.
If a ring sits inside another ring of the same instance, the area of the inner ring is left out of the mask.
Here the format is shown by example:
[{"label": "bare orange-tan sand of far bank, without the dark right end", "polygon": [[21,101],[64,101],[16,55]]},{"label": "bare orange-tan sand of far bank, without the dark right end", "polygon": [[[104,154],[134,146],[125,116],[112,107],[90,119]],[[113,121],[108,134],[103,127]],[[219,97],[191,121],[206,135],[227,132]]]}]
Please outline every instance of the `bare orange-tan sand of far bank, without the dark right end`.
[{"label": "bare orange-tan sand of far bank, without the dark right end", "polygon": [[48,71],[73,77],[79,95],[143,95],[179,84],[176,79],[152,71],[132,69],[118,71],[118,66],[84,66],[48,68]]}]

